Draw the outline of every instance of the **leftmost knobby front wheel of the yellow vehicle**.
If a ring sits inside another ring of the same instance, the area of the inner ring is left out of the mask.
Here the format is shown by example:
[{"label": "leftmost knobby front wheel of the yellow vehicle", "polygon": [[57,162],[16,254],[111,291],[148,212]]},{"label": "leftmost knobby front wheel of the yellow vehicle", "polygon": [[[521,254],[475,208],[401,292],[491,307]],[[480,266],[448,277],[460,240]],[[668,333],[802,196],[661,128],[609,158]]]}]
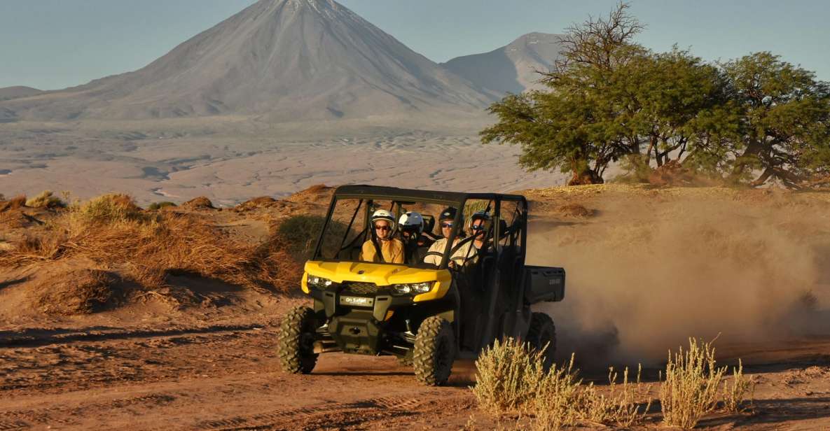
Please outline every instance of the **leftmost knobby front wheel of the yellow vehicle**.
[{"label": "leftmost knobby front wheel of the yellow vehicle", "polygon": [[292,308],[283,317],[277,332],[276,352],[282,370],[291,374],[309,374],[317,364],[314,352],[316,319],[308,307]]}]

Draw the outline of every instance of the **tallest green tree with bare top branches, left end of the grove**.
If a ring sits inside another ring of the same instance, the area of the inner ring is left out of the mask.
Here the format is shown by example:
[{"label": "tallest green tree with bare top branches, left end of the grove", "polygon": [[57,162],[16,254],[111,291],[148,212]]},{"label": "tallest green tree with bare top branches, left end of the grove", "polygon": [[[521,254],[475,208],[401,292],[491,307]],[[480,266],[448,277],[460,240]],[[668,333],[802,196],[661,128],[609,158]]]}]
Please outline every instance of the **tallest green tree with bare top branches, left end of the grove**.
[{"label": "tallest green tree with bare top branches, left end of the grove", "polygon": [[603,182],[610,162],[639,152],[639,138],[618,121],[626,106],[608,97],[614,75],[647,51],[632,41],[642,26],[620,3],[607,18],[569,27],[554,70],[542,73],[549,91],[508,94],[491,105],[499,122],[484,143],[518,143],[520,165],[571,172],[569,185]]}]

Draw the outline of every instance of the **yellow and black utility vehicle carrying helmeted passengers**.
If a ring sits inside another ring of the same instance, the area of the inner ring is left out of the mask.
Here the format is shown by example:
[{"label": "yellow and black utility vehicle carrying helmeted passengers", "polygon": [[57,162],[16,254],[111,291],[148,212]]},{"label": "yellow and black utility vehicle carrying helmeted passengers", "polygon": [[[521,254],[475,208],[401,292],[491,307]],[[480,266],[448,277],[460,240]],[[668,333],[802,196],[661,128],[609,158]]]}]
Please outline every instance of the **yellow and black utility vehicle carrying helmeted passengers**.
[{"label": "yellow and black utility vehicle carrying helmeted passengers", "polygon": [[[442,250],[427,253],[424,244],[410,250],[417,258],[406,264],[361,261],[364,244],[378,241],[375,211],[417,211],[431,220],[424,222],[429,236],[435,215],[447,207],[457,211],[444,220],[452,232]],[[489,218],[484,238],[478,235],[480,247],[470,247],[473,213]],[[338,187],[301,281],[313,307],[293,308],[279,329],[283,370],[310,373],[321,353],[334,351],[393,355],[411,364],[423,384],[442,385],[453,361],[475,359],[503,337],[544,349],[544,365],[550,366],[554,322],[530,305],[561,301],[565,272],[525,264],[527,220],[528,204],[520,195]],[[459,256],[461,249],[467,255]],[[437,255],[438,264],[423,263],[427,255]]]}]

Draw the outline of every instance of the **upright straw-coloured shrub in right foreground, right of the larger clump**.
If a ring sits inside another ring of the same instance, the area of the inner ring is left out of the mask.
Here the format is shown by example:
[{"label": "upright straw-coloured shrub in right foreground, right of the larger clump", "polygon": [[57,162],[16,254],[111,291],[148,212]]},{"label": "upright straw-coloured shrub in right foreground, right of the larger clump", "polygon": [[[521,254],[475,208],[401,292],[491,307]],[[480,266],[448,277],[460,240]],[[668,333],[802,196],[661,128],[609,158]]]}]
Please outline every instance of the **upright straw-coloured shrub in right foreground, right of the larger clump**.
[{"label": "upright straw-coloured shrub in right foreground, right of the larger clump", "polygon": [[701,418],[714,410],[718,388],[726,367],[715,366],[715,348],[710,342],[689,338],[674,355],[669,351],[666,380],[660,388],[663,422],[683,429],[695,428]]}]

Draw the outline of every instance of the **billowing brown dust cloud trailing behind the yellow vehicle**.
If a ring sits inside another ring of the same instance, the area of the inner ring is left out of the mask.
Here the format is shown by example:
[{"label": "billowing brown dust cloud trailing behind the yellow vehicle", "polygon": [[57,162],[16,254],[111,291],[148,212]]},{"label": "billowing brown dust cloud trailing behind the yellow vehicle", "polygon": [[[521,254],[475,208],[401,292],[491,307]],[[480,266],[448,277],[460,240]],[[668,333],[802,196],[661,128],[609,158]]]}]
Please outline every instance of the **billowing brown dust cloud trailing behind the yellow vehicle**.
[{"label": "billowing brown dust cloud trailing behind the yellow vehicle", "polygon": [[[716,346],[830,334],[830,206],[823,196],[696,189],[603,194],[584,220],[542,214],[529,264],[567,271],[558,356],[656,365],[688,337]],[[539,215],[539,214],[537,214]]]}]

